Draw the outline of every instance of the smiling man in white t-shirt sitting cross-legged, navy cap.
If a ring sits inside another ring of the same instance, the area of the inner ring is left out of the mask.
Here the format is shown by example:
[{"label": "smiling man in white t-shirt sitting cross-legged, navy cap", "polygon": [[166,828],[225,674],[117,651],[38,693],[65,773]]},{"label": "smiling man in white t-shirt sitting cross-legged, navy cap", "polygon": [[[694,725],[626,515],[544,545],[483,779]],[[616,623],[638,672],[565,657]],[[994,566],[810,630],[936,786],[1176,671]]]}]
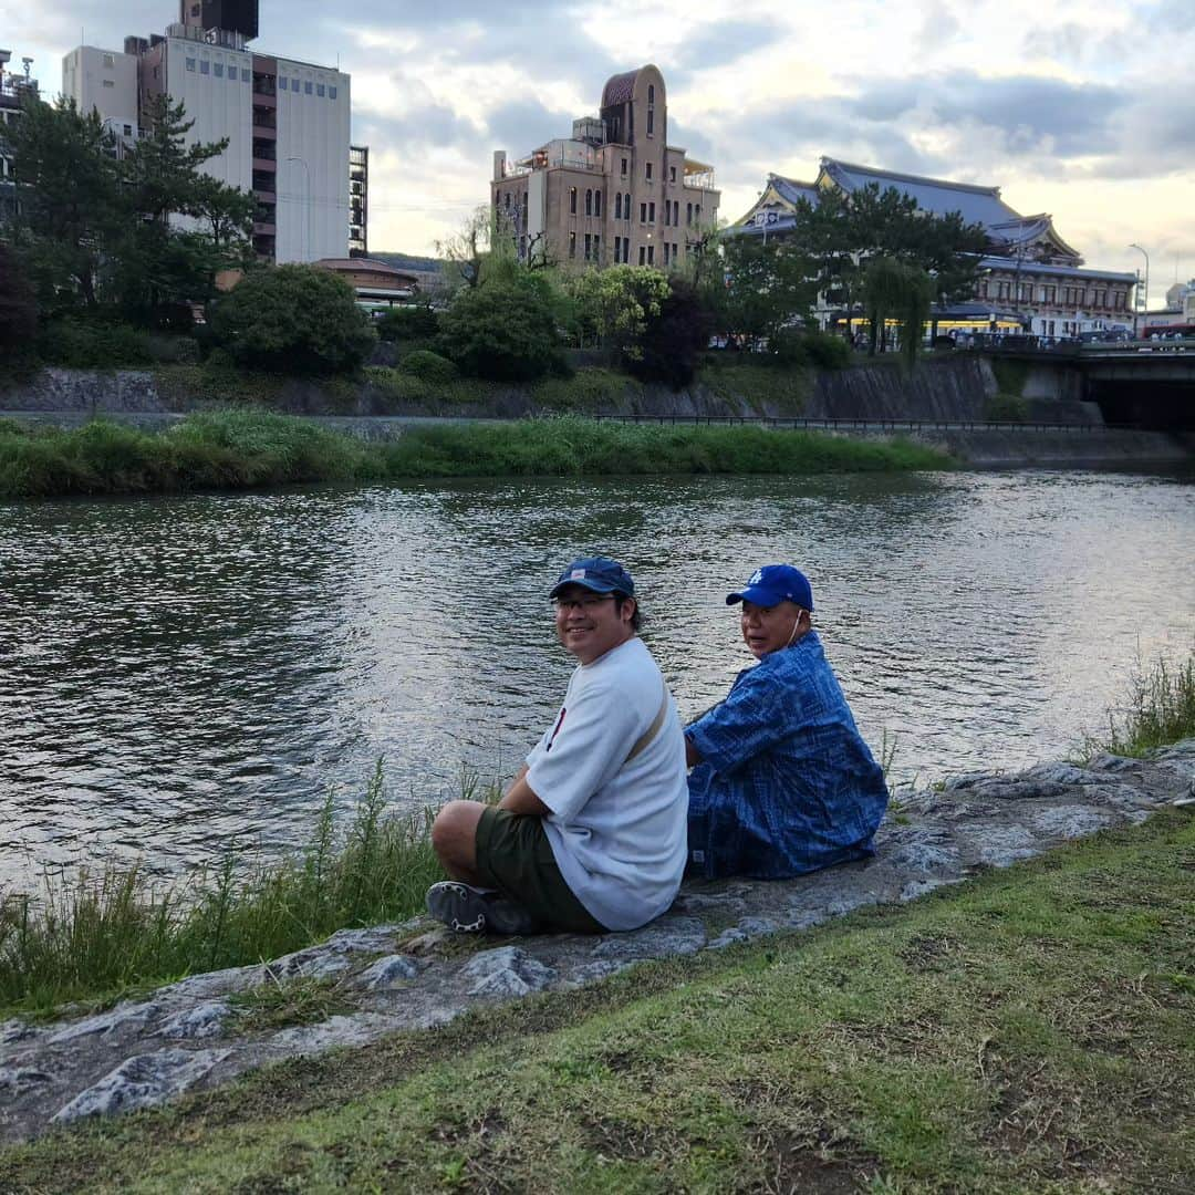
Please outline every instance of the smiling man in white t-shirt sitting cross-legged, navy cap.
[{"label": "smiling man in white t-shirt sitting cross-legged, navy cap", "polygon": [[635,582],[587,557],[550,596],[578,661],[564,705],[497,807],[451,801],[431,827],[453,878],[428,890],[428,911],[458,932],[635,930],[685,870],[685,739],[637,633]]}]

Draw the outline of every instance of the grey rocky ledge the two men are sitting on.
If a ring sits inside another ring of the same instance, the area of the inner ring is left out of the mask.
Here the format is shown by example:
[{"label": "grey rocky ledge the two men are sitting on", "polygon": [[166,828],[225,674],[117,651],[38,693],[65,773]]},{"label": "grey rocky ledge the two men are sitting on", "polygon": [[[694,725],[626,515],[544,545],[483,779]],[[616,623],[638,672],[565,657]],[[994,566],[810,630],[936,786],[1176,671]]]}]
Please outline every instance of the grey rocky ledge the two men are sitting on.
[{"label": "grey rocky ledge the two men are sitting on", "polygon": [[[1195,808],[1195,739],[1144,760],[1102,755],[1083,767],[963,776],[942,791],[911,792],[889,811],[874,859],[784,883],[686,883],[667,915],[633,933],[465,940],[415,918],[344,930],[264,966],[195,975],[97,1016],[10,1021],[0,1024],[0,1141],[161,1104],[295,1055],[443,1024],[477,1004],[592,983],[643,960],[913,900],[1139,823],[1168,804]],[[235,998],[296,980],[335,986],[344,1011],[319,1024],[251,1028]]]}]

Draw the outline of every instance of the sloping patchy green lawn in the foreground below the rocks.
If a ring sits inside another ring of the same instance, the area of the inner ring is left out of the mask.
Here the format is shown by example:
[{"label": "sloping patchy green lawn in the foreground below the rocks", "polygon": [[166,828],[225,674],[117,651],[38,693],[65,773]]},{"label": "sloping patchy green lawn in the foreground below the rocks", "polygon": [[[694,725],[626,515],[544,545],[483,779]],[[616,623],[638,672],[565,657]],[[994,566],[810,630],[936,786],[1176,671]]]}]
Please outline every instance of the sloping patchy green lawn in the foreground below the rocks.
[{"label": "sloping patchy green lawn in the foreground below the rocks", "polygon": [[1195,822],[0,1154],[13,1191],[1181,1191]]}]

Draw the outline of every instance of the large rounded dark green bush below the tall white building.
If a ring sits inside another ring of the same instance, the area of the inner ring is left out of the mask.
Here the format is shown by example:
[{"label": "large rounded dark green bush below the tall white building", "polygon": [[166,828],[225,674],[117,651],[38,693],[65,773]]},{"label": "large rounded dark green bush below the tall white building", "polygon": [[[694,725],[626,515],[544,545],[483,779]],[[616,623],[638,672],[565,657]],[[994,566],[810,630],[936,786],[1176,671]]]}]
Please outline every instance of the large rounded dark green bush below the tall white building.
[{"label": "large rounded dark green bush below the tall white building", "polygon": [[238,364],[278,373],[349,372],[375,341],[353,287],[314,265],[246,274],[214,307],[210,323]]}]

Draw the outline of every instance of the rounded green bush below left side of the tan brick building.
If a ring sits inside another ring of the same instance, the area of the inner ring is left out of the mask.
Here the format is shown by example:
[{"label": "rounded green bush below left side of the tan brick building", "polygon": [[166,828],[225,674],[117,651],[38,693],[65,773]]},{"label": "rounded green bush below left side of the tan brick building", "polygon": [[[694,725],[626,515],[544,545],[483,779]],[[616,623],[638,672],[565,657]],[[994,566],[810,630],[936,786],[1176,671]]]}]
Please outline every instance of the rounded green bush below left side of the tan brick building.
[{"label": "rounded green bush below left side of the tan brick building", "polygon": [[459,292],[441,320],[441,347],[462,373],[534,381],[564,368],[556,298],[543,274],[520,270]]}]

